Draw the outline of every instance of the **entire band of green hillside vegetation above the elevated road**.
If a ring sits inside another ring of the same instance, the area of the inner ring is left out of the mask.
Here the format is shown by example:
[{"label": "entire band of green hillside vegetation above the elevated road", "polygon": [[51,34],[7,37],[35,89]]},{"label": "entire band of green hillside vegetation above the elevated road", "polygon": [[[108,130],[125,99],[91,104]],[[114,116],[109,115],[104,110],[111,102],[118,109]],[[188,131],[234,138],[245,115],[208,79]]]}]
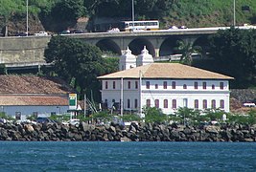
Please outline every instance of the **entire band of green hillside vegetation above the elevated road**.
[{"label": "entire band of green hillside vegetation above the elevated road", "polygon": [[[20,22],[25,25],[26,1],[1,0],[0,27]],[[131,1],[124,0],[29,0],[29,14],[39,17],[47,31],[59,32],[75,26],[86,16],[131,19]],[[233,0],[134,0],[135,19],[158,19],[161,27],[233,25]],[[248,7],[248,8],[244,8]],[[32,19],[33,17],[30,17]],[[30,22],[31,23],[31,22]],[[256,23],[256,1],[236,1],[236,24]],[[18,26],[18,25],[15,25]],[[90,26],[90,25],[88,25]]]}]

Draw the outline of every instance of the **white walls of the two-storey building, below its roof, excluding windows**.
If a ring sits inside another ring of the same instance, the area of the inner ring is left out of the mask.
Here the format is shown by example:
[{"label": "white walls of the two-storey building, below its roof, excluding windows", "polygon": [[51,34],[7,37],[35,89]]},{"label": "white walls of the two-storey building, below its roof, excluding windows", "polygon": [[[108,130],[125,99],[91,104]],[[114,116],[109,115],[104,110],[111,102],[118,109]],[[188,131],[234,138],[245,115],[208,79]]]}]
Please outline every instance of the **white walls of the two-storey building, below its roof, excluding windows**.
[{"label": "white walls of the two-storey building, below its roof, excluding windows", "polygon": [[[108,88],[105,89],[105,81]],[[113,89],[113,81],[115,81],[115,89]],[[130,81],[130,89],[128,89],[128,81]],[[135,81],[138,81],[138,88],[135,88]],[[150,81],[150,89],[146,88],[146,82]],[[164,89],[163,82],[167,81],[167,89]],[[175,89],[172,88],[172,82],[175,81]],[[198,89],[194,87],[194,83],[198,82]],[[206,89],[202,88],[202,83],[206,82]],[[223,82],[223,89],[220,88],[220,82]],[[124,109],[128,109],[128,99],[130,99],[130,109],[134,109],[134,100],[140,99],[139,79],[124,79],[123,81],[123,102]],[[155,84],[158,88],[155,89]],[[183,85],[187,85],[187,89],[183,89]],[[214,89],[212,85],[215,85]],[[195,107],[195,99],[198,99],[198,109],[202,109],[203,99],[207,100],[207,108],[211,108],[211,102],[216,100],[216,108],[221,106],[221,99],[224,100],[224,111],[229,112],[229,85],[227,80],[188,80],[188,79],[143,79],[142,81],[142,107],[146,105],[147,99],[151,99],[151,107],[154,107],[154,100],[159,99],[159,108],[165,114],[173,114],[175,109],[172,108],[172,100],[176,99],[176,105],[183,107],[184,98],[187,99],[187,107]],[[112,99],[119,102],[121,99],[121,79],[103,80],[102,100],[107,99],[108,107],[111,107]],[[164,99],[168,99],[168,108],[163,108]],[[139,105],[138,105],[139,106]]]}]

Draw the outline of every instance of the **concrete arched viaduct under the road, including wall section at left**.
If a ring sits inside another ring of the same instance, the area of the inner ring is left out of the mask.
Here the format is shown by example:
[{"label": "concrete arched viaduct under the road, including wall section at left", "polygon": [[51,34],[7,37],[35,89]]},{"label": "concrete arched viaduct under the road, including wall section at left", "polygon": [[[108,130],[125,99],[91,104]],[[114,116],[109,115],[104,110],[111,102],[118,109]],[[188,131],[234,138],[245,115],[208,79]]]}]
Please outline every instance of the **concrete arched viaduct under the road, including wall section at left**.
[{"label": "concrete arched viaduct under the road, including wall section at left", "polygon": [[[175,54],[177,40],[192,42],[207,52],[208,35],[223,28],[198,28],[179,30],[160,30],[145,32],[92,32],[82,34],[65,34],[64,36],[79,38],[84,42],[98,46],[102,51],[121,55],[128,47],[132,54],[140,54],[146,46],[154,57]],[[29,67],[44,64],[44,50],[51,36],[1,37],[0,63],[7,67]],[[23,65],[21,65],[23,64]]]}]

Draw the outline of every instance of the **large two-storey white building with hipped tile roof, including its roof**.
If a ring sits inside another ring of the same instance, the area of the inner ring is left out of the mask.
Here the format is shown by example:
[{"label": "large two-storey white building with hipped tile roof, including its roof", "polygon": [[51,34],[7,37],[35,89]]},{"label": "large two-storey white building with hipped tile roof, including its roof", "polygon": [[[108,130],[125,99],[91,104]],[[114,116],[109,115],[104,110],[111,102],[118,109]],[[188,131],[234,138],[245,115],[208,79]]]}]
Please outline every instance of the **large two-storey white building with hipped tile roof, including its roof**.
[{"label": "large two-storey white building with hipped tile roof, including its roof", "polygon": [[[151,63],[98,77],[102,80],[102,101],[121,109],[139,111],[144,106],[173,114],[178,107],[220,108],[229,112],[229,79],[177,63]],[[123,102],[123,103],[122,103]]]}]

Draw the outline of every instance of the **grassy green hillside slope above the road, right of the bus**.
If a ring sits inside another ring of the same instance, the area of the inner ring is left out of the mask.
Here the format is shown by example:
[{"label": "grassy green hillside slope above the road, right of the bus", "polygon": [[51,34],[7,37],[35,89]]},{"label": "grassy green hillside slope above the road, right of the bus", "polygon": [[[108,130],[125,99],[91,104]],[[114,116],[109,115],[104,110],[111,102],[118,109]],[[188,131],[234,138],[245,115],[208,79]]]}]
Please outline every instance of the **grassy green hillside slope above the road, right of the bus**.
[{"label": "grassy green hillside slope above the road, right of the bus", "polygon": [[[194,27],[231,26],[234,22],[233,0],[181,0],[164,17],[166,25]],[[247,9],[247,7],[249,9]],[[240,0],[235,4],[236,25],[256,23],[256,1]]]}]

